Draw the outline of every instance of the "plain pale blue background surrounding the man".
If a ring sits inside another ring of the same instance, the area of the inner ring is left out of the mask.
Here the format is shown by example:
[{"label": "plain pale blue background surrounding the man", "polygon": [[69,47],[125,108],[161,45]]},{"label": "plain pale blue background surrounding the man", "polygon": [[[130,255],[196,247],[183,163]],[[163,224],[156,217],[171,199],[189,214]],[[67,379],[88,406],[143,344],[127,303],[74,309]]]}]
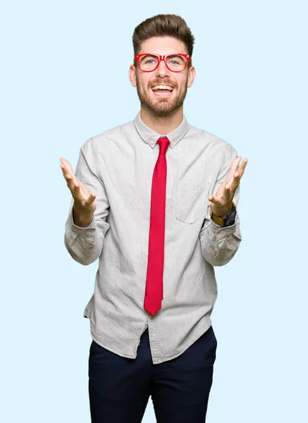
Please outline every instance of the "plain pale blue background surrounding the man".
[{"label": "plain pale blue background surrounding the man", "polygon": [[75,168],[87,138],[135,117],[131,37],[157,13],[196,37],[188,121],[249,158],[242,245],[216,268],[207,423],[308,421],[306,2],[54,0],[0,6],[1,422],[90,422],[82,313],[97,262],[64,247],[59,158]]}]

